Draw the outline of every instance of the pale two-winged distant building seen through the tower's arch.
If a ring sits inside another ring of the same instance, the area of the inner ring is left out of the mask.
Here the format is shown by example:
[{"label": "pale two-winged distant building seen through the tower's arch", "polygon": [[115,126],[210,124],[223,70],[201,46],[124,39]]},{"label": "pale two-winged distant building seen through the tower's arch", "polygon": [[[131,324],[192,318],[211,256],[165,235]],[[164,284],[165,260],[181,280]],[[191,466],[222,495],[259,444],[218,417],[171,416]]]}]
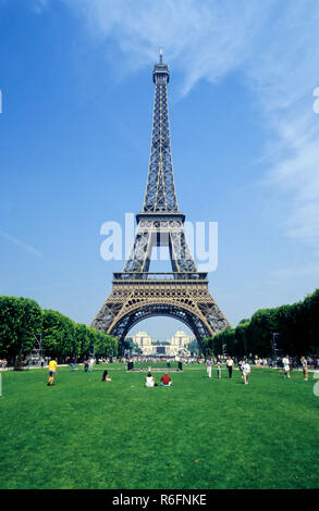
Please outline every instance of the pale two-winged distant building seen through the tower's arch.
[{"label": "pale two-winged distant building seen through the tower's arch", "polygon": [[132,339],[142,350],[142,354],[175,357],[176,354],[189,356],[191,352],[187,346],[194,342],[195,337],[187,335],[183,331],[179,331],[169,339],[160,342],[157,339],[152,339],[147,332],[138,332],[136,335],[132,336]]}]

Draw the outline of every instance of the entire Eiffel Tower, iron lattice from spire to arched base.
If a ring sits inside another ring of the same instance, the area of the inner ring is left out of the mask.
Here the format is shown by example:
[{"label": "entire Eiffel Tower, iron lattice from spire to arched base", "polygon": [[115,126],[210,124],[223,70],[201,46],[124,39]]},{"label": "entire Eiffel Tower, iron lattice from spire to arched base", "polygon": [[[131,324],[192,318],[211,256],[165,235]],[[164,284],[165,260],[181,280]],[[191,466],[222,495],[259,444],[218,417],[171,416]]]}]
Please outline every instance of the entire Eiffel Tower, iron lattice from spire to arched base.
[{"label": "entire Eiffel Tower, iron lattice from spire to arched base", "polygon": [[[207,273],[198,272],[188,249],[174,186],[168,110],[168,65],[152,72],[155,102],[151,149],[144,208],[124,269],[113,273],[112,290],[91,326],[123,340],[138,322],[164,315],[185,323],[200,344],[230,326],[208,290]],[[151,273],[154,247],[168,247],[171,273]]]}]

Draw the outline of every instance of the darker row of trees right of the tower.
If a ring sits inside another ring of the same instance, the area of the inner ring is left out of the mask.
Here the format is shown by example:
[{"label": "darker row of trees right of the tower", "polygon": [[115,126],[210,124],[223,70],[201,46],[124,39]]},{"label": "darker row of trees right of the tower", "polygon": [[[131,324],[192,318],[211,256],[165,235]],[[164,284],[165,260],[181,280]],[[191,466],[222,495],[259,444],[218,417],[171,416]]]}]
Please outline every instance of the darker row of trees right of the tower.
[{"label": "darker row of trees right of the tower", "polygon": [[319,353],[319,288],[292,306],[259,309],[250,320],[241,321],[236,328],[226,328],[204,339],[203,348],[214,356],[272,357],[273,339],[282,353]]}]

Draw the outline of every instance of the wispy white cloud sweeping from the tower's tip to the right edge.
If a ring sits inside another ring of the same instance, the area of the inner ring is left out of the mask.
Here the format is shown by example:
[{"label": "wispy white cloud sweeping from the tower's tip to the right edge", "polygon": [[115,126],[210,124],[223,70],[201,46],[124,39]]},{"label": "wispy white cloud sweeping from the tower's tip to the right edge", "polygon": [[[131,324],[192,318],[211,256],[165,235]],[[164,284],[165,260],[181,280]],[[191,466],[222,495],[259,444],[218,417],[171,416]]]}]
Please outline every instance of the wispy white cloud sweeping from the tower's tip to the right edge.
[{"label": "wispy white cloud sweeping from the tower's tip to the right edge", "polygon": [[62,0],[93,38],[115,40],[131,70],[151,65],[159,46],[184,74],[183,92],[240,70],[273,140],[268,186],[285,205],[287,236],[319,247],[319,2],[317,0]]}]

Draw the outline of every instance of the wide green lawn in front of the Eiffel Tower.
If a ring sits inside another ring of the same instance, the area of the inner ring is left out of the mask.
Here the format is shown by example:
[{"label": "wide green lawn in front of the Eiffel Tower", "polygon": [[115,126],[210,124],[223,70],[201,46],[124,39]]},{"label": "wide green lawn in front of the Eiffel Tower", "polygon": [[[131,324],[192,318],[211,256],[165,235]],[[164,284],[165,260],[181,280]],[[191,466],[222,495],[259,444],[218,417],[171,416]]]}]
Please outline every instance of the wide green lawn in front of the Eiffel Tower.
[{"label": "wide green lawn in front of the Eiffel Tower", "polygon": [[[319,398],[300,372],[284,379],[253,369],[245,386],[172,373],[145,388],[145,373],[108,365],[2,373],[0,488],[318,488]],[[156,378],[159,375],[156,374]]]}]

